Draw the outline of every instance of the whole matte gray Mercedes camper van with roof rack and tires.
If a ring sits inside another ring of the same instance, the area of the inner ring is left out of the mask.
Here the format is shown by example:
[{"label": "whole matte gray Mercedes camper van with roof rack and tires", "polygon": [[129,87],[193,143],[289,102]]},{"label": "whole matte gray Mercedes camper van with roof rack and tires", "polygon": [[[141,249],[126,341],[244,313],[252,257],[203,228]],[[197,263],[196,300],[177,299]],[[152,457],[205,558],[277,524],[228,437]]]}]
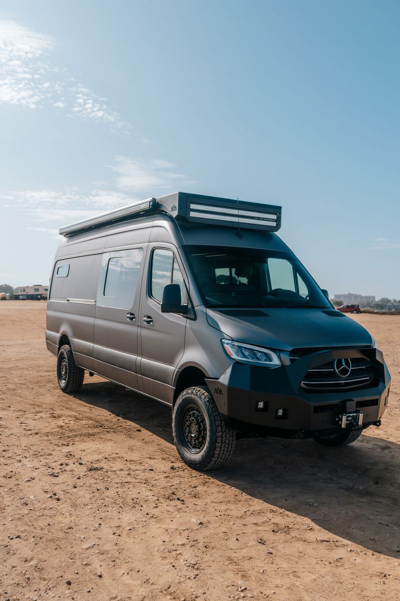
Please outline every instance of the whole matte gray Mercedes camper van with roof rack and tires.
[{"label": "whole matte gray Mercedes camper van with roof rack and tires", "polygon": [[236,438],[338,447],[380,426],[383,355],[280,225],[281,207],[178,192],[61,228],[46,329],[61,390],[88,371],[167,404],[198,470]]}]

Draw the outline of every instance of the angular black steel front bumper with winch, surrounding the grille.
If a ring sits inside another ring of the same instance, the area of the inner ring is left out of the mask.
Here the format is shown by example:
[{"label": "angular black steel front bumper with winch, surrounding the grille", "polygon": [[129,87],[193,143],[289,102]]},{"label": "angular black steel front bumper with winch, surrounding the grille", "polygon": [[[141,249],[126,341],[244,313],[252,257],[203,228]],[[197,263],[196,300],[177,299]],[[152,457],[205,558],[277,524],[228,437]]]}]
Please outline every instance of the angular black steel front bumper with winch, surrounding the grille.
[{"label": "angular black steel front bumper with winch, surrounding the grille", "polygon": [[[278,368],[233,363],[220,379],[207,379],[206,383],[225,421],[241,432],[306,435],[340,427],[339,416],[354,411],[363,412],[365,427],[383,415],[390,389],[382,353],[378,349],[371,352],[374,380],[358,389],[307,392],[301,385],[311,367],[336,358],[357,357],[362,353],[357,349],[312,353]],[[262,409],[258,409],[260,401],[264,401]]]}]

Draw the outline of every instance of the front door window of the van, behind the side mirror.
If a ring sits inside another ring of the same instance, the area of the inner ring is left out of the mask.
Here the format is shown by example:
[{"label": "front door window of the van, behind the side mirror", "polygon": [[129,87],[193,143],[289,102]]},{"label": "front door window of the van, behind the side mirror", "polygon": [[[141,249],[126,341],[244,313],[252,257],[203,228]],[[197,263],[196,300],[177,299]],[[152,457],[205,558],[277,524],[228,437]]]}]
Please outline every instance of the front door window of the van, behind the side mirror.
[{"label": "front door window of the van, behind the side mirror", "polygon": [[156,301],[163,300],[163,292],[167,284],[179,284],[182,302],[185,304],[187,296],[184,277],[176,257],[166,248],[156,248],[153,251],[150,279],[150,294]]}]

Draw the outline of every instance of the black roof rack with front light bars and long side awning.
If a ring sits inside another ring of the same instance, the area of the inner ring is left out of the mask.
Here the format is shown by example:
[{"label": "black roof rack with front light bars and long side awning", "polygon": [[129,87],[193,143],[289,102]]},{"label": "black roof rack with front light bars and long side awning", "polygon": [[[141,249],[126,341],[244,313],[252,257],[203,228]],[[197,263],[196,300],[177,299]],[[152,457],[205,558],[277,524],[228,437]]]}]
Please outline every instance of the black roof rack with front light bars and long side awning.
[{"label": "black roof rack with front light bars and long side awning", "polygon": [[62,236],[73,236],[107,224],[133,219],[150,213],[167,213],[178,221],[207,225],[278,231],[282,207],[264,203],[248,203],[230,198],[175,192],[160,198],[131,204],[96,217],[83,219],[59,230]]}]

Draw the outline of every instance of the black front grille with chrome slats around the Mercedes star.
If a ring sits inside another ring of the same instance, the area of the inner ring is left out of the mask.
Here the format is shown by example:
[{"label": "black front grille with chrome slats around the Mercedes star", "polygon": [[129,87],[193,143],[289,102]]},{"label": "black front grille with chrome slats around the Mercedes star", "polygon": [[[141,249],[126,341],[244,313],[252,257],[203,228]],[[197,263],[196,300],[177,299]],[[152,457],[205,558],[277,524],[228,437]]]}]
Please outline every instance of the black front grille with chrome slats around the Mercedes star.
[{"label": "black front grille with chrome slats around the Mercedes star", "polygon": [[308,392],[344,391],[367,386],[374,379],[374,365],[365,357],[351,359],[351,371],[347,377],[336,374],[333,361],[314,367],[305,375],[302,388]]}]

